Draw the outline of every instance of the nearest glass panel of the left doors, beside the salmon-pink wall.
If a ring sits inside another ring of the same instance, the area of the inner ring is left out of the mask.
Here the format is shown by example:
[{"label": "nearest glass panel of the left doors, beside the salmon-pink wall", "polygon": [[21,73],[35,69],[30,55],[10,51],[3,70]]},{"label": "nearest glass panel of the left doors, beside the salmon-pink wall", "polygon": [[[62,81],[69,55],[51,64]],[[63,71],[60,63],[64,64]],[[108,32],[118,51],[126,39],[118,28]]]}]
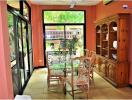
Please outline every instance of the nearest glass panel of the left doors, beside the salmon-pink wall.
[{"label": "nearest glass panel of the left doors, beside the salmon-pink wall", "polygon": [[17,38],[16,38],[16,22],[17,17],[13,15],[11,12],[8,12],[8,30],[9,30],[9,42],[10,42],[10,61],[11,61],[11,70],[12,70],[12,81],[13,81],[13,90],[14,95],[20,94],[21,79],[20,79],[20,71],[17,63]]}]

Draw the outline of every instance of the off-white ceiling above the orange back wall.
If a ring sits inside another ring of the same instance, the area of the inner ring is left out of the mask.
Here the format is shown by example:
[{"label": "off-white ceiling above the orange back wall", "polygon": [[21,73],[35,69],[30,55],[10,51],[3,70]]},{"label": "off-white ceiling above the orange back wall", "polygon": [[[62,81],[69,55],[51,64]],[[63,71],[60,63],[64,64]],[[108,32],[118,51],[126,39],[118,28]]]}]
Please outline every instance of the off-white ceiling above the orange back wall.
[{"label": "off-white ceiling above the orange back wall", "polygon": [[33,4],[40,5],[96,5],[102,0],[30,0]]}]

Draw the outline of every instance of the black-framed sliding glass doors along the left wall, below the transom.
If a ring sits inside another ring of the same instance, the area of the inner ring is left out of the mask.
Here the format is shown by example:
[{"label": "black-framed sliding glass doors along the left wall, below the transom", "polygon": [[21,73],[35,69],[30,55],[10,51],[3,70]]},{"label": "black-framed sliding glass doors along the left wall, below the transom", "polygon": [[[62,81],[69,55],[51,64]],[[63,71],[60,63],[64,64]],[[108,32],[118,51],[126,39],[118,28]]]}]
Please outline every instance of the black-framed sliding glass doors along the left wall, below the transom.
[{"label": "black-framed sliding glass doors along the left wall, below the transom", "polygon": [[14,96],[22,94],[33,71],[32,34],[30,22],[8,8],[10,61]]}]

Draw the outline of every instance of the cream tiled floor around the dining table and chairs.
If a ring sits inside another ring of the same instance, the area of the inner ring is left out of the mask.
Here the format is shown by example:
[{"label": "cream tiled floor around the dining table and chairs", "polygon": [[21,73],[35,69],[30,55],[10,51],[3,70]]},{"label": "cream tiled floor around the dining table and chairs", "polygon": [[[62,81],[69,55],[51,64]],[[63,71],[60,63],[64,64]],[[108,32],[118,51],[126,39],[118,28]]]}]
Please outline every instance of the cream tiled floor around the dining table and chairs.
[{"label": "cream tiled floor around the dining table and chairs", "polygon": [[[33,72],[24,95],[31,95],[32,99],[72,99],[67,93],[63,94],[61,88],[54,87],[48,90],[47,69],[37,69]],[[85,98],[85,96],[75,95],[75,98]],[[95,87],[91,87],[90,99],[132,99],[132,88],[115,88],[99,75],[95,74]]]}]

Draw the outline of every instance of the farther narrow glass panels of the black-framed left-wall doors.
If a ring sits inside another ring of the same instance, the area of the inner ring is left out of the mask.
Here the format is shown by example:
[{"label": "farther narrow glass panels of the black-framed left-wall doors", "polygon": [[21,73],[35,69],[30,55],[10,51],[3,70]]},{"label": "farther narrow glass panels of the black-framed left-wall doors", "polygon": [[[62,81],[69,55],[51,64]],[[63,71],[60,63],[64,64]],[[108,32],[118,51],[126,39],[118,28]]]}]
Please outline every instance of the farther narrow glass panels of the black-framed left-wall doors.
[{"label": "farther narrow glass panels of the black-framed left-wall doors", "polygon": [[18,44],[19,44],[19,67],[21,72],[22,86],[29,78],[29,59],[28,59],[28,41],[27,41],[27,24],[19,18],[18,21]]}]

